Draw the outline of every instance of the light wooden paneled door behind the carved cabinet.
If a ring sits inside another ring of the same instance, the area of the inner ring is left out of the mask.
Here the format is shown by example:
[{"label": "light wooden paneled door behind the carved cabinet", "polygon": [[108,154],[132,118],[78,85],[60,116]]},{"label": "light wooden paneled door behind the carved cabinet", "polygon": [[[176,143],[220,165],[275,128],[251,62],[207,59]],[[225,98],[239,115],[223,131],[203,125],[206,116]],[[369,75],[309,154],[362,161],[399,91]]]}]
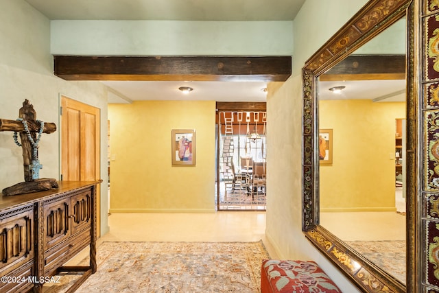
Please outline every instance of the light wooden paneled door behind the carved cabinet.
[{"label": "light wooden paneled door behind the carved cabinet", "polygon": [[[100,110],[61,97],[62,180],[100,179]],[[100,235],[100,188],[96,189],[97,235]]]}]

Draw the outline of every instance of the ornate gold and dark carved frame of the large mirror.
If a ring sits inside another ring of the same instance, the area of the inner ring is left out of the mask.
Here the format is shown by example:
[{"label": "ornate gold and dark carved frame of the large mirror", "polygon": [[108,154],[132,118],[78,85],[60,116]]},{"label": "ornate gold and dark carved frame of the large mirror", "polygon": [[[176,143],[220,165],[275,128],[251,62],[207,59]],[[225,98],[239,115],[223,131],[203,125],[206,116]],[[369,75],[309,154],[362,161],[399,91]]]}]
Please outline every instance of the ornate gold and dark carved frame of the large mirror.
[{"label": "ornate gold and dark carved frame of the large mirror", "polygon": [[[417,94],[414,86],[414,1],[371,0],[302,69],[302,231],[364,292],[414,292]],[[377,36],[402,16],[407,18],[407,286],[381,270],[319,224],[318,76]]]}]

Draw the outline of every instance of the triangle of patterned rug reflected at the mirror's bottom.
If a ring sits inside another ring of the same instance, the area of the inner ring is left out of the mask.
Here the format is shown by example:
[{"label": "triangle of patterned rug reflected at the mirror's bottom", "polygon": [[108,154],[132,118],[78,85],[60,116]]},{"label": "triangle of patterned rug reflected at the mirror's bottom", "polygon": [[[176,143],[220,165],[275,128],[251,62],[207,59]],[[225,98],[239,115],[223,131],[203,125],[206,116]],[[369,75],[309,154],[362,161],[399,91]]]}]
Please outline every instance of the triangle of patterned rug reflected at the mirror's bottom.
[{"label": "triangle of patterned rug reflected at the mirror's bottom", "polygon": [[346,244],[405,283],[405,241],[351,241]]}]

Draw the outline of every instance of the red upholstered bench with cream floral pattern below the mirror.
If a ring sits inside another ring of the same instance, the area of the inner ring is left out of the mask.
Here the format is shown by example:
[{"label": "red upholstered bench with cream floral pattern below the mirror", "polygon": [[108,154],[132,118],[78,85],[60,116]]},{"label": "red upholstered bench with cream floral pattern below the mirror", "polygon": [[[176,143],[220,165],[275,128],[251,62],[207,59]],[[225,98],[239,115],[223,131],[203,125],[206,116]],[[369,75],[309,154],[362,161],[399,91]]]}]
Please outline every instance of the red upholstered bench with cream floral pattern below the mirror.
[{"label": "red upholstered bench with cream floral pattern below the mirror", "polygon": [[341,293],[314,261],[265,259],[261,266],[261,292]]}]

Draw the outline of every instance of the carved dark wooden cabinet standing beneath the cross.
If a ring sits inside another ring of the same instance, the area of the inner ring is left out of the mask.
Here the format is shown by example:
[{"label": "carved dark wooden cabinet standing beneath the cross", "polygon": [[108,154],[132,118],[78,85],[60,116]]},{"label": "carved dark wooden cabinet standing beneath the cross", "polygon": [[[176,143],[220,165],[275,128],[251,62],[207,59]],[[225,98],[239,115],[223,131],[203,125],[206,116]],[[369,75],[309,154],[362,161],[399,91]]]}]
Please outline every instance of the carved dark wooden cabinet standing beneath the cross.
[{"label": "carved dark wooden cabinet standing beneath the cross", "polygon": [[[0,199],[0,292],[40,292],[58,272],[96,271],[96,185],[60,181],[58,189]],[[63,266],[90,246],[88,266]]]}]

